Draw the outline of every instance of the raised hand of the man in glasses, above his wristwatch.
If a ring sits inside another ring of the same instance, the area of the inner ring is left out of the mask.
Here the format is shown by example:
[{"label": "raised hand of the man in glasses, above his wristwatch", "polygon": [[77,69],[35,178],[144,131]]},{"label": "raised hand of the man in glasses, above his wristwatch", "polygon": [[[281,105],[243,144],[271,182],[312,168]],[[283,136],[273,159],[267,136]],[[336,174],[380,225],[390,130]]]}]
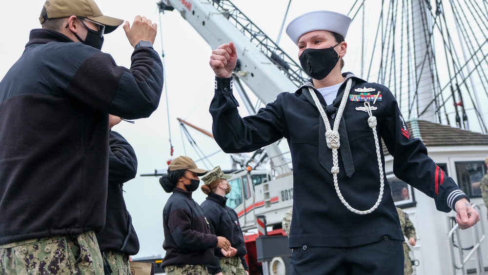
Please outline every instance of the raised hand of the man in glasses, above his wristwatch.
[{"label": "raised hand of the man in glasses, above his wristwatch", "polygon": [[130,27],[129,21],[125,21],[123,30],[125,31],[127,39],[129,39],[129,43],[132,47],[135,47],[141,40],[149,41],[154,44],[156,34],[158,33],[158,25],[153,24],[151,20],[146,19],[145,17],[136,16],[134,23],[132,23],[132,27]]}]

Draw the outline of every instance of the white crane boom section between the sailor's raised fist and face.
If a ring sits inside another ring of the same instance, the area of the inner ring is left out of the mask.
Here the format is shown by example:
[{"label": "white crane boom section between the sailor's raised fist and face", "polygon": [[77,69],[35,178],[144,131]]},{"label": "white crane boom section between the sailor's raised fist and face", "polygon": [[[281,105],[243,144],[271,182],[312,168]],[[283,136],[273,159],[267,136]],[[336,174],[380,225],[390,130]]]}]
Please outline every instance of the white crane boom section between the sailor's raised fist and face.
[{"label": "white crane boom section between the sailor's raised fist and face", "polygon": [[[159,5],[163,10],[174,8],[179,11],[183,19],[188,21],[213,49],[233,41],[239,57],[237,77],[262,102],[272,102],[281,92],[294,92],[305,79],[300,66],[281,51],[259,28],[247,30],[249,38],[246,37],[244,30],[239,30],[231,23],[229,14],[219,11],[214,6],[215,4],[222,8],[220,2],[226,2],[233,10],[238,11],[230,1],[224,0],[162,0]],[[242,13],[240,15],[246,18]],[[251,41],[258,37],[262,37],[260,42],[266,40],[269,46],[258,47]]]}]

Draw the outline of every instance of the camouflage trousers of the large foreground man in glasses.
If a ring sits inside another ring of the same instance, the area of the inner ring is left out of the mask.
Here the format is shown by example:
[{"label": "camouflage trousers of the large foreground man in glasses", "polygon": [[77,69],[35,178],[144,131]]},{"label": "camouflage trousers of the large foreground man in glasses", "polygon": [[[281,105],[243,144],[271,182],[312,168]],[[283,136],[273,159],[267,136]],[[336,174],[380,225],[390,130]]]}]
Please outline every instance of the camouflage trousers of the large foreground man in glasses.
[{"label": "camouflage trousers of the large foreground man in glasses", "polygon": [[93,231],[0,245],[0,274],[103,275],[103,262]]}]

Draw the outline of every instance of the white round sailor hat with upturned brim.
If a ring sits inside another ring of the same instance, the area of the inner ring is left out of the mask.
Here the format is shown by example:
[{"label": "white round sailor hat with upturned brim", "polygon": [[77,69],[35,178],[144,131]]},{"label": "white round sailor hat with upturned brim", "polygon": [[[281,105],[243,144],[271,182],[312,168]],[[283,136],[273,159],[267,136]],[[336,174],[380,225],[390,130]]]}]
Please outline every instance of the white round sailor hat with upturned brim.
[{"label": "white round sailor hat with upturned brim", "polygon": [[286,34],[298,45],[298,39],[311,31],[329,31],[346,38],[352,19],[344,14],[333,11],[313,11],[305,13],[286,27]]}]

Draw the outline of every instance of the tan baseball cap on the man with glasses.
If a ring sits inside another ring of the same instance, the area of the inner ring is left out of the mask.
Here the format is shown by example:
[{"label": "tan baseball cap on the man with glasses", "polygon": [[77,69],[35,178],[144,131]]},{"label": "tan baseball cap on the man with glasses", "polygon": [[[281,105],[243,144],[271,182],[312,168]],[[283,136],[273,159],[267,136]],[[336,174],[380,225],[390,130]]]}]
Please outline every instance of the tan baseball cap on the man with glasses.
[{"label": "tan baseball cap on the man with glasses", "polygon": [[51,18],[65,18],[72,15],[86,18],[105,25],[105,33],[111,33],[120,26],[124,20],[102,14],[94,0],[46,0],[44,7],[47,16],[41,16],[41,24]]}]

